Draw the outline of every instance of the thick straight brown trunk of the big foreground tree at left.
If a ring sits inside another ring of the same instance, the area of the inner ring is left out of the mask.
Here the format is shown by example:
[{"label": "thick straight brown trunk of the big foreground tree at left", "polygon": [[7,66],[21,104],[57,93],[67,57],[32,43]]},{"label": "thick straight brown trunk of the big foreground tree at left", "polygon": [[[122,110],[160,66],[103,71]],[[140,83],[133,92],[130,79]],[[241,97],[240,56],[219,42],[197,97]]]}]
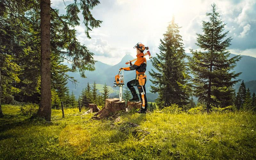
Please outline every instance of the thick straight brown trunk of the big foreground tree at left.
[{"label": "thick straight brown trunk of the big foreground tree at left", "polygon": [[41,0],[41,101],[37,116],[51,121],[51,1]]}]

